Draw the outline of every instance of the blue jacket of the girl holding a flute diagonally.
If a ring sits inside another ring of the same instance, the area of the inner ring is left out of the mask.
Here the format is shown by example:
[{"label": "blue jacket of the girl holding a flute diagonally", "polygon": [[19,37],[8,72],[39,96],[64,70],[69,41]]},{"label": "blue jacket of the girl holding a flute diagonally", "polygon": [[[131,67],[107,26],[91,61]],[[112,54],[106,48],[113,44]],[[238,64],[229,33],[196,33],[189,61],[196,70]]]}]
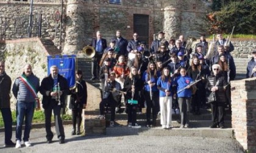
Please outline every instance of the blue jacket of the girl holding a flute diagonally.
[{"label": "blue jacket of the girl holding a flute diagonally", "polygon": [[[180,77],[178,77],[175,81],[175,83],[177,84],[177,91],[182,90],[183,88],[187,87],[189,84],[193,83],[192,78],[190,77],[182,77],[180,75]],[[182,92],[180,92],[179,94],[177,94],[178,97],[191,97],[192,96],[192,91],[191,89],[185,89]]]}]

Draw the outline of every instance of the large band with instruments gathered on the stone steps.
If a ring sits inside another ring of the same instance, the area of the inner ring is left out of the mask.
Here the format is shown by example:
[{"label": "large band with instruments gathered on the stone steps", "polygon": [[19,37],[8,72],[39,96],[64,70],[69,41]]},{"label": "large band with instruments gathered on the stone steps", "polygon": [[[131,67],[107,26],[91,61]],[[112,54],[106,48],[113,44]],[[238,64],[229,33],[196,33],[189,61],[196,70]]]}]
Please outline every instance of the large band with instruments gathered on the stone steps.
[{"label": "large band with instruments gathered on the stone steps", "polygon": [[[115,126],[115,113],[119,112],[124,95],[129,127],[141,127],[136,114],[143,107],[146,107],[146,127],[156,126],[160,113],[162,127],[168,129],[172,114],[180,114],[181,128],[189,127],[190,113],[200,115],[202,107],[210,106],[213,117],[210,127],[224,128],[224,110],[231,102],[229,82],[235,79],[236,67],[230,55],[234,47],[221,33],[210,54],[205,35],[201,35],[195,50],[183,35],[167,41],[164,32],[158,33],[149,49],[136,32],[127,41],[116,31],[109,47],[100,32],[96,35],[92,43],[96,45],[93,63],[101,61],[101,64],[96,63],[99,73],[93,73],[91,80],[98,78],[102,83],[98,119],[104,118],[104,109],[111,107],[110,127]],[[207,104],[212,92],[216,100]]]}]

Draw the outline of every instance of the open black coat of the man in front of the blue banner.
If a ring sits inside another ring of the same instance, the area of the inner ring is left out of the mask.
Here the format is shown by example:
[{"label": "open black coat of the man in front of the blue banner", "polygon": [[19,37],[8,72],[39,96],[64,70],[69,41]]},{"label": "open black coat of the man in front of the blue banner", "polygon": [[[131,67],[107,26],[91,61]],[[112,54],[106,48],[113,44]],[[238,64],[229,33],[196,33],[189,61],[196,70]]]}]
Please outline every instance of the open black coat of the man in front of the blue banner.
[{"label": "open black coat of the man in front of the blue banner", "polygon": [[[60,90],[62,91],[62,95],[60,96],[60,103],[62,104],[62,106],[64,106],[66,95],[69,94],[68,80],[62,77],[62,75],[58,74],[58,83],[60,83]],[[54,80],[51,75],[43,78],[40,86],[40,93],[43,95],[42,104],[44,109],[47,108],[50,105],[49,103],[52,102],[52,97],[50,93],[52,92],[53,87]]]}]

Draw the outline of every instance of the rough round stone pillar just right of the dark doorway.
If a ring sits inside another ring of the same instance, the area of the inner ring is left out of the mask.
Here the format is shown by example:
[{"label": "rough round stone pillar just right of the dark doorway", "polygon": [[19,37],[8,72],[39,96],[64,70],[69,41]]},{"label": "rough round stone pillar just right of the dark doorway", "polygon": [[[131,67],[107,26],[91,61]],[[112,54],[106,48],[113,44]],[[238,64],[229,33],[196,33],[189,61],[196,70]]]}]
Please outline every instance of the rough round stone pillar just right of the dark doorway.
[{"label": "rough round stone pillar just right of the dark doorway", "polygon": [[169,40],[170,38],[177,38],[181,32],[181,20],[180,20],[180,10],[169,5],[165,7],[164,10],[164,32],[165,38]]}]

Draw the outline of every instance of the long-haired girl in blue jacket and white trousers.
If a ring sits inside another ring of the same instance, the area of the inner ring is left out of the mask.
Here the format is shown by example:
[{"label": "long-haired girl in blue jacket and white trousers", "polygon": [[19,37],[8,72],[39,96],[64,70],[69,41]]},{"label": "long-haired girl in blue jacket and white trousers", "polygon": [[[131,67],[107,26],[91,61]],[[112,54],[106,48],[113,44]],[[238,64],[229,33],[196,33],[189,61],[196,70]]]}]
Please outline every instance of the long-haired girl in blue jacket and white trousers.
[{"label": "long-haired girl in blue jacket and white trousers", "polygon": [[161,77],[157,80],[159,90],[159,103],[161,112],[161,124],[163,129],[171,127],[172,114],[172,80],[168,67],[163,68]]}]

